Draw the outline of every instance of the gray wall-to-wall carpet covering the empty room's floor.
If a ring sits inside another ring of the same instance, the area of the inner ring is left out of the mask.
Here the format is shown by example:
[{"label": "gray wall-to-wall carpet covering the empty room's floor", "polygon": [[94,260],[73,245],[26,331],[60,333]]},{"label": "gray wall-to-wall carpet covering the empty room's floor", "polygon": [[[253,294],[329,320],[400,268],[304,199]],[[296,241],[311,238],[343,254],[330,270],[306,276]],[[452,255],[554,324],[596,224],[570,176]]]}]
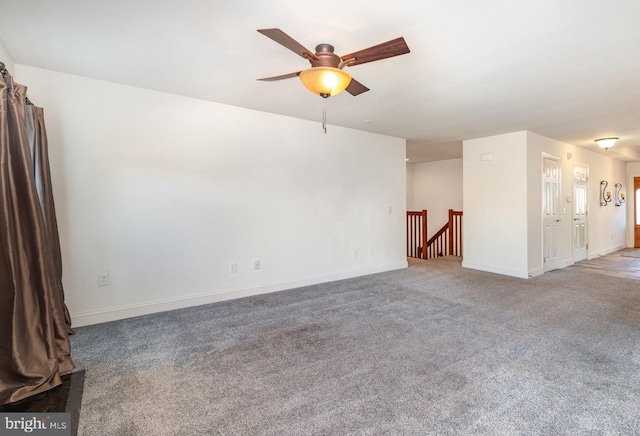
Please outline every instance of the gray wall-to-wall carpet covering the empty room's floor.
[{"label": "gray wall-to-wall carpet covering the empty room's floor", "polygon": [[640,433],[640,282],[411,264],[78,328],[79,434]]}]

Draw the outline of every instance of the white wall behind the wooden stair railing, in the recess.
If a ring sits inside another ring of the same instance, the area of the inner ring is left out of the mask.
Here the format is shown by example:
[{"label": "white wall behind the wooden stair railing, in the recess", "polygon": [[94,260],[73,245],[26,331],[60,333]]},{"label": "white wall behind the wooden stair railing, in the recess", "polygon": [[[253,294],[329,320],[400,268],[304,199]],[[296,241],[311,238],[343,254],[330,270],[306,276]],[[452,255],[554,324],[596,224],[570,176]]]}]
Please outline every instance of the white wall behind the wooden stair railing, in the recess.
[{"label": "white wall behind the wooden stair railing, in the recess", "polygon": [[449,220],[449,209],[462,210],[462,159],[410,166],[413,173],[411,210],[427,210],[427,233],[431,237]]}]

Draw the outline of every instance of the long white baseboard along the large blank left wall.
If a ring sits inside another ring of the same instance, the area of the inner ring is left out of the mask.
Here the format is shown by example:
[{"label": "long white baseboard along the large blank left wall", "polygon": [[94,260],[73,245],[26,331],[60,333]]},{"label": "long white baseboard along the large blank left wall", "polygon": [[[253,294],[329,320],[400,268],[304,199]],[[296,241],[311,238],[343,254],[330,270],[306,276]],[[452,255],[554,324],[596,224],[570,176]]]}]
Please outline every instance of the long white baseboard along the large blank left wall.
[{"label": "long white baseboard along the large blank left wall", "polygon": [[185,307],[200,306],[203,304],[216,303],[219,301],[232,300],[235,298],[267,294],[270,292],[284,291],[287,289],[294,289],[302,286],[317,285],[320,283],[333,282],[336,280],[344,280],[369,274],[393,271],[397,269],[407,268],[407,266],[407,262],[400,262],[398,264],[379,268],[319,275],[298,280],[265,283],[257,286],[247,286],[235,289],[216,290],[199,295],[168,298],[138,304],[128,304],[118,307],[109,307],[99,310],[71,313],[71,320],[73,323],[73,327],[82,327],[103,322],[117,321],[119,319],[132,318],[135,316],[149,315],[152,313],[183,309]]}]

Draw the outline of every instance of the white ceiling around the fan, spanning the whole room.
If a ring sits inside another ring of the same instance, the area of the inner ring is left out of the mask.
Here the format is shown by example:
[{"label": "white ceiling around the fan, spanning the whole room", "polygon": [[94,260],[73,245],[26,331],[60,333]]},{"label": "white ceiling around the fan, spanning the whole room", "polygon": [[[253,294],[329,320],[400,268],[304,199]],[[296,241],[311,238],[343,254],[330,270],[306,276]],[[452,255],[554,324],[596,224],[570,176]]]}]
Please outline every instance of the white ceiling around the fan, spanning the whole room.
[{"label": "white ceiling around the fan, spanning the whole room", "polygon": [[[268,27],[312,51],[404,36],[411,53],[349,68],[371,91],[323,101],[256,81],[308,66]],[[640,150],[638,0],[0,0],[0,42],[19,64],[318,122],[324,104],[329,133],[406,138],[413,162],[519,130]]]}]

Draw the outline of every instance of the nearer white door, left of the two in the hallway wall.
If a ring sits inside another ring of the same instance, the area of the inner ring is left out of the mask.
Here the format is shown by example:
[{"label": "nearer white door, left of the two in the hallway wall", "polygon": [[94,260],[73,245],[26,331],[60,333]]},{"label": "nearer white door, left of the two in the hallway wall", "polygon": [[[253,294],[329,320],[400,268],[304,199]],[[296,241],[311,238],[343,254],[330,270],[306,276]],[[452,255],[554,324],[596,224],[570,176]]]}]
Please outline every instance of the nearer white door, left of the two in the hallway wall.
[{"label": "nearer white door, left of the two in the hallway wall", "polygon": [[560,165],[556,159],[542,159],[542,254],[544,271],[560,267]]}]

